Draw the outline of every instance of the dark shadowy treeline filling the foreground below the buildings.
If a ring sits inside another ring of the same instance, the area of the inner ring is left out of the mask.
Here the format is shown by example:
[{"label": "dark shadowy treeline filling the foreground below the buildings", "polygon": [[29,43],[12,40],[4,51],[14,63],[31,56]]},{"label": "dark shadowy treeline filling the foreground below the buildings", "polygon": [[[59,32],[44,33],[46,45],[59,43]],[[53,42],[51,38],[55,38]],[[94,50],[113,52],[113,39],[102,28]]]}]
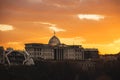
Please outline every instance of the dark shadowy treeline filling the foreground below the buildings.
[{"label": "dark shadowy treeline filling the foreground below the buildings", "polygon": [[34,66],[0,65],[0,80],[120,80],[120,62],[97,62],[94,68],[88,70],[73,62],[39,62]]}]

